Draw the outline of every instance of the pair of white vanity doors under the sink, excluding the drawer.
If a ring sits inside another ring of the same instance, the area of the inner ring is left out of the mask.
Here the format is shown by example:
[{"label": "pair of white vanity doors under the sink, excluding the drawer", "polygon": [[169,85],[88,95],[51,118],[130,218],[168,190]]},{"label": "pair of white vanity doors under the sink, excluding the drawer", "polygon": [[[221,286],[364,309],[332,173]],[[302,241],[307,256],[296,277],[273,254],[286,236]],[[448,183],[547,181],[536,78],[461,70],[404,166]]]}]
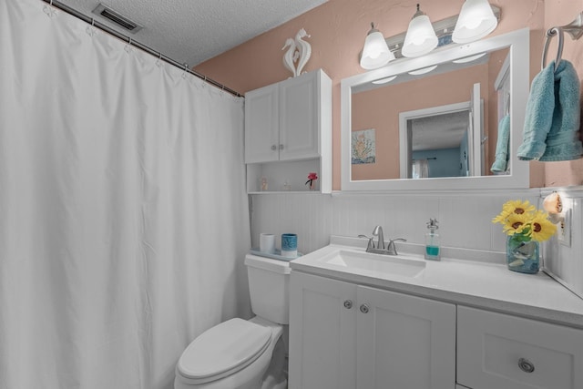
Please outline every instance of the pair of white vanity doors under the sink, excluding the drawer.
[{"label": "pair of white vanity doors under the sink, excluding the drawer", "polygon": [[455,305],[292,271],[290,388],[455,388]]}]

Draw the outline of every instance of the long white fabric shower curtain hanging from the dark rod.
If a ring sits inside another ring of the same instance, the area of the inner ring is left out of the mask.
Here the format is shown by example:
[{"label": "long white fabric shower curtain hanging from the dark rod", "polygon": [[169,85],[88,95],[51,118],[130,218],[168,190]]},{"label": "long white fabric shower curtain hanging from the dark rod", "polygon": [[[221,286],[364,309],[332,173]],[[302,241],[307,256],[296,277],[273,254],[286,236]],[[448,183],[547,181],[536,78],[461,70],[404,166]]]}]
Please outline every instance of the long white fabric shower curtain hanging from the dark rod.
[{"label": "long white fabric shower curtain hanging from the dark rod", "polygon": [[171,388],[249,314],[243,102],[0,0],[0,388]]}]

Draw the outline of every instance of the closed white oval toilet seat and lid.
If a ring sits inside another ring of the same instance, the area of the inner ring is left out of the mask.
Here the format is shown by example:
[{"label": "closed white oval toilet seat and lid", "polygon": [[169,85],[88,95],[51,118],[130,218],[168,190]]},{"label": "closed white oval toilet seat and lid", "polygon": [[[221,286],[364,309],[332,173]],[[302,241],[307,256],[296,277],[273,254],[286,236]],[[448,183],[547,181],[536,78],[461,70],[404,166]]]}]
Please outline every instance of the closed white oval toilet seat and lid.
[{"label": "closed white oval toilet seat and lid", "polygon": [[219,380],[253,363],[271,343],[271,328],[239,318],[199,335],[182,353],[179,374],[193,384]]}]

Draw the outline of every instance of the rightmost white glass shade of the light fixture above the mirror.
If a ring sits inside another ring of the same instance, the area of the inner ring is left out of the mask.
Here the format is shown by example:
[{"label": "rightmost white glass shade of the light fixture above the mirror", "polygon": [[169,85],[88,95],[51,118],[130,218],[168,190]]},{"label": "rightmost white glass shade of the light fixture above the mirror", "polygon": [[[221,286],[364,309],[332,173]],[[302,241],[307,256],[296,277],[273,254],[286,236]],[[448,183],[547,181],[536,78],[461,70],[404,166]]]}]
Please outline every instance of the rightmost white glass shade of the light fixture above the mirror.
[{"label": "rightmost white glass shade of the light fixture above the mirror", "polygon": [[465,0],[455,23],[452,40],[470,43],[490,34],[498,26],[498,19],[487,0]]}]

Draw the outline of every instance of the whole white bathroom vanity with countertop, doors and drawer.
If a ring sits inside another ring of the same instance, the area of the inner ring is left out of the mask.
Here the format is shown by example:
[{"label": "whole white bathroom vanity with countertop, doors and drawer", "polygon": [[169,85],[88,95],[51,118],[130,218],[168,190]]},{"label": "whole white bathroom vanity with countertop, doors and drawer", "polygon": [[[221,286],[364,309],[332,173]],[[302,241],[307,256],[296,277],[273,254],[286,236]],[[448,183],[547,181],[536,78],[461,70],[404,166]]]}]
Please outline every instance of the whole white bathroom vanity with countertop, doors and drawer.
[{"label": "whole white bathroom vanity with countertop, doors and drawer", "polygon": [[291,389],[583,387],[583,300],[546,274],[365,247],[291,262]]}]

